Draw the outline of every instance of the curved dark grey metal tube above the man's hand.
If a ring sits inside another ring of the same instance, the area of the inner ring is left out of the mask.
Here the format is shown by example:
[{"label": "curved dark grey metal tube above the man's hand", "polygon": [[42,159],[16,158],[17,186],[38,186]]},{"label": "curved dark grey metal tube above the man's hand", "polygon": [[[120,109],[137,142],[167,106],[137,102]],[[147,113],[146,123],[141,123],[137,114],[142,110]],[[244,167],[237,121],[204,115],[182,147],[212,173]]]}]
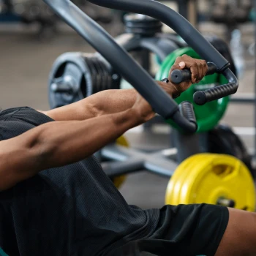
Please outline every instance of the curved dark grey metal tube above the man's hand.
[{"label": "curved dark grey metal tube above the man's hand", "polygon": [[[214,62],[220,71],[228,61],[178,12],[153,0],[89,0],[93,4],[126,12],[148,15],[162,21],[176,31],[203,59]],[[200,43],[199,43],[200,42]]]}]

